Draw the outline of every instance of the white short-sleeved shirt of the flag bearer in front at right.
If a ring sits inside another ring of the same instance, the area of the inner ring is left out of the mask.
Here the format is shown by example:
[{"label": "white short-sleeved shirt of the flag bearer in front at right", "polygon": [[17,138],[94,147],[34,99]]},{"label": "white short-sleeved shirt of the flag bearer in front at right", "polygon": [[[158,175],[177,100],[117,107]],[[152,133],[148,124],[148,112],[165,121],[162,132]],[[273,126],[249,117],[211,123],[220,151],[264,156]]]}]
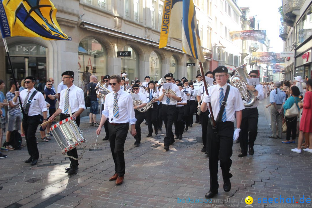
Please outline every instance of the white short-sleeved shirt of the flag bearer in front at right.
[{"label": "white short-sleeved shirt of the flag bearer in front at right", "polygon": [[[219,111],[220,111],[220,107],[219,107],[219,96],[220,96],[220,90],[219,89],[220,89],[220,87],[221,87],[220,85],[213,85],[213,86],[208,88],[208,93],[211,96],[211,102],[210,103],[211,103],[214,119],[217,119],[217,116],[218,116]],[[223,85],[222,88],[223,88],[223,94],[225,95],[226,89],[227,89],[227,84]],[[210,111],[208,104],[207,104],[207,108]],[[227,104],[224,108],[224,110],[226,112],[226,116],[227,116],[227,121],[234,122],[235,111],[240,111],[243,109],[245,109],[245,106],[243,104],[243,101],[241,100],[241,94],[239,93],[237,88],[230,86],[230,92],[229,92],[229,95],[227,97]],[[211,114],[209,115],[209,117],[210,116],[211,116]]]}]

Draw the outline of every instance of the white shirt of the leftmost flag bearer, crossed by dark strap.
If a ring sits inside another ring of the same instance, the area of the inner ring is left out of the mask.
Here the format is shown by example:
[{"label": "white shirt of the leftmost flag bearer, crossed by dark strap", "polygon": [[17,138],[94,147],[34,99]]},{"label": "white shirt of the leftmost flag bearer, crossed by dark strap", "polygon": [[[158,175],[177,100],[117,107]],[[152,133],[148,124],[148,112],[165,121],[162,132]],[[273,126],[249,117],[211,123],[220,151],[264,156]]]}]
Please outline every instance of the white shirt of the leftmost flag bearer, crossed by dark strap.
[{"label": "white shirt of the leftmost flag bearer, crossed by dark strap", "polygon": [[[30,90],[28,99],[30,99],[30,97],[32,96],[32,93],[35,90],[36,89],[34,87]],[[28,94],[27,91],[28,91],[28,89],[23,89],[20,92],[20,98],[21,98],[22,106],[23,106],[24,102],[27,102],[27,100],[25,100],[26,96]],[[12,100],[12,103],[14,105],[17,105],[17,104],[19,104],[19,100],[17,99],[16,103],[13,102],[13,100]],[[29,106],[28,116],[40,115],[41,112],[45,112],[45,111],[47,111],[46,101],[44,100],[43,94],[41,92],[37,92],[37,94],[32,99],[32,103]]]}]

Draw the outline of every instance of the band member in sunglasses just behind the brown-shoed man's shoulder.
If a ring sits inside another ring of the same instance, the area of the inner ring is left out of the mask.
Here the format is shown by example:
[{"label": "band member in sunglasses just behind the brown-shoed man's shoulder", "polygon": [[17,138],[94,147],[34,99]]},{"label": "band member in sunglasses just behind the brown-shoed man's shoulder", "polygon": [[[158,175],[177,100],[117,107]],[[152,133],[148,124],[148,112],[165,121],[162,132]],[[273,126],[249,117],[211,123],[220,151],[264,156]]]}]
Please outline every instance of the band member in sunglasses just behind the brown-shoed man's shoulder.
[{"label": "band member in sunglasses just behind the brown-shoed man's shoulder", "polygon": [[135,138],[134,145],[139,146],[141,143],[141,123],[145,119],[145,113],[140,112],[138,109],[143,108],[145,105],[147,105],[147,100],[145,95],[139,91],[140,86],[138,84],[134,84],[132,86],[132,89],[134,94],[140,95],[140,100],[142,101],[142,104],[133,106],[135,118],[137,119],[135,122],[136,135],[134,136]]}]

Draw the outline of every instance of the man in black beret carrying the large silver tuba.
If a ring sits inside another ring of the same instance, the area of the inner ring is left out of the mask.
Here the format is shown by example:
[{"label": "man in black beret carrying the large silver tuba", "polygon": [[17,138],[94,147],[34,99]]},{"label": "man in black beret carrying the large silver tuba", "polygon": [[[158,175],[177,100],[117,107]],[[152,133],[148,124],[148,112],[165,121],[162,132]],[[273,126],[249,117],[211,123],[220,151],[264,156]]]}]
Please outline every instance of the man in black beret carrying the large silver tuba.
[{"label": "man in black beret carrying the large silver tuba", "polygon": [[[249,78],[258,78],[258,70],[251,70],[249,72]],[[239,143],[241,146],[241,153],[238,154],[238,157],[244,157],[247,155],[247,150],[249,146],[249,155],[254,154],[254,143],[258,134],[258,109],[259,100],[264,99],[264,92],[262,85],[246,85],[246,88],[249,91],[252,91],[255,94],[256,101],[252,106],[245,107],[242,110],[242,120],[241,120],[241,133]]]}]

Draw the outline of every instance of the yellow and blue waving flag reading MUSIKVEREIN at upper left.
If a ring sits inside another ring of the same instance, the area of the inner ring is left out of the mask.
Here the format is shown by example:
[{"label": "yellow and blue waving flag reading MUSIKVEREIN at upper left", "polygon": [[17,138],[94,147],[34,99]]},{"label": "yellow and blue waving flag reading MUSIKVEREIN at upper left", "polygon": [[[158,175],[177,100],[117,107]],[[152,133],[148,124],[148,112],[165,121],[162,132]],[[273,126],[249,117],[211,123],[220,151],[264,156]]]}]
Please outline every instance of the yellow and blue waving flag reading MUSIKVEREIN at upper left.
[{"label": "yellow and blue waving flag reading MUSIKVEREIN at upper left", "polygon": [[50,0],[0,0],[2,37],[41,37],[69,40],[56,21],[56,8]]}]

